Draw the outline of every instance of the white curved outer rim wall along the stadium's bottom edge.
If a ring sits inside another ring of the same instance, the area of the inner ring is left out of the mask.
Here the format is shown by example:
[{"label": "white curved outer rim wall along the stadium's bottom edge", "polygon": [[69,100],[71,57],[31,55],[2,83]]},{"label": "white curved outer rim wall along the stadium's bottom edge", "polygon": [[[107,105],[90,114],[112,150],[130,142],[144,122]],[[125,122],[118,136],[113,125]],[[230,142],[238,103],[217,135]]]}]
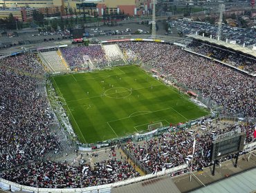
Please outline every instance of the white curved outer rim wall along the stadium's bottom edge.
[{"label": "white curved outer rim wall along the stadium's bottom edge", "polygon": [[116,183],[110,183],[106,185],[98,185],[93,187],[83,187],[83,188],[62,188],[62,189],[55,189],[55,188],[39,188],[39,187],[30,187],[26,185],[19,185],[17,183],[13,183],[11,181],[7,181],[5,179],[0,179],[0,189],[2,190],[8,190],[11,192],[15,191],[26,191],[26,192],[40,192],[40,193],[46,193],[46,192],[111,192],[111,189],[114,187],[120,187],[122,185],[128,185],[131,183],[137,183],[140,181],[145,181],[148,179],[153,179],[158,176],[163,176],[165,174],[172,174],[177,171],[185,170],[188,168],[187,164],[179,165],[178,167],[172,167],[167,170],[163,170],[161,172],[156,172],[156,174],[147,174],[145,176],[139,176],[133,179],[127,179],[125,181],[118,181]]}]

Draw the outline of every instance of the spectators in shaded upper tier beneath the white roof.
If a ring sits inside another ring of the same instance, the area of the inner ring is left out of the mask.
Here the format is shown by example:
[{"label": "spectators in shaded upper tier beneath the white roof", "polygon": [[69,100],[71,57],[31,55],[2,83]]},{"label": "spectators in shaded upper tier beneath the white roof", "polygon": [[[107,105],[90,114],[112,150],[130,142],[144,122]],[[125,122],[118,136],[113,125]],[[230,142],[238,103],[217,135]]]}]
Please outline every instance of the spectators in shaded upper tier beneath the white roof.
[{"label": "spectators in shaded upper tier beneath the white roof", "polygon": [[188,48],[199,54],[219,59],[220,61],[241,68],[247,72],[256,73],[256,59],[253,57],[246,57],[236,52],[223,50],[199,41],[192,41],[188,44]]}]

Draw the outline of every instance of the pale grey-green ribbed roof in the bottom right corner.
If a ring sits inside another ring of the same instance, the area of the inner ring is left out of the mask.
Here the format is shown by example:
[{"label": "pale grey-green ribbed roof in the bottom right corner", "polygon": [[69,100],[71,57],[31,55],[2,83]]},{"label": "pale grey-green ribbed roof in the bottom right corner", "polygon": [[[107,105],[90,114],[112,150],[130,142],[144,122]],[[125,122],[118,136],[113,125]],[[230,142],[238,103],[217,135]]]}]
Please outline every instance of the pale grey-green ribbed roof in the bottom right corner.
[{"label": "pale grey-green ribbed roof in the bottom right corner", "polygon": [[209,192],[221,192],[221,193],[248,192],[249,193],[249,192],[254,192],[256,190],[255,179],[256,179],[256,168],[253,170],[249,170],[247,172],[232,176],[229,179],[225,179],[223,181],[213,183],[212,185],[202,187],[202,188],[195,190],[191,193],[209,193]]}]

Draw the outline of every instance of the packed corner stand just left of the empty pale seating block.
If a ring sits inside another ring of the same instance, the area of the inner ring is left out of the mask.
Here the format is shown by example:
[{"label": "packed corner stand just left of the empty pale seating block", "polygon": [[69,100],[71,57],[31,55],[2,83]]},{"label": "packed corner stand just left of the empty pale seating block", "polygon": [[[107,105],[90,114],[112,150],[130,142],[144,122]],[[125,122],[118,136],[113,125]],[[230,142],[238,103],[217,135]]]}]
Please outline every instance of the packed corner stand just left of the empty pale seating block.
[{"label": "packed corner stand just left of the empty pale seating block", "polygon": [[44,74],[44,67],[39,62],[36,54],[19,54],[16,57],[6,57],[0,61],[0,65],[13,68],[29,74]]}]

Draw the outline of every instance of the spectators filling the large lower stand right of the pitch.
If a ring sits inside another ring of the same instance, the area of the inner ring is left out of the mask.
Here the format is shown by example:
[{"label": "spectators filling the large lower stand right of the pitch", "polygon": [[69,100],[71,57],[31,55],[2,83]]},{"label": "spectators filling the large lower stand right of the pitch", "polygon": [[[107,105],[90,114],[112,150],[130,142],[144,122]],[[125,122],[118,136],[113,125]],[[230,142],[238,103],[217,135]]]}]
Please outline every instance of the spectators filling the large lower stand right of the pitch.
[{"label": "spectators filling the large lower stand right of the pitch", "polygon": [[175,46],[149,42],[120,43],[133,50],[144,65],[165,77],[201,92],[204,98],[222,107],[230,116],[256,116],[256,79],[216,61],[199,57]]}]

